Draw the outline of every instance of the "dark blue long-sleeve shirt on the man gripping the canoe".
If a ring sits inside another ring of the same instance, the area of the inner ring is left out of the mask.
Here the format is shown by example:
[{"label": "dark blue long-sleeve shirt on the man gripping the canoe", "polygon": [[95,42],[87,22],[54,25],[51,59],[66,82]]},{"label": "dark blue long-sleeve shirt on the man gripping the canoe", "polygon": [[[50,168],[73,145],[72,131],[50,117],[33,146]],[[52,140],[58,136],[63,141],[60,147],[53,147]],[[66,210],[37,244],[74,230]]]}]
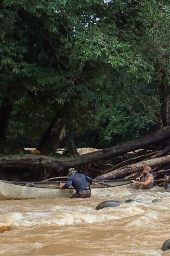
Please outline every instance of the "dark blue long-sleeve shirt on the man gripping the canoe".
[{"label": "dark blue long-sleeve shirt on the man gripping the canoe", "polygon": [[78,193],[79,191],[86,190],[87,182],[92,184],[92,178],[86,176],[85,174],[73,173],[67,180],[63,189],[70,187],[71,185],[74,187],[75,191]]}]

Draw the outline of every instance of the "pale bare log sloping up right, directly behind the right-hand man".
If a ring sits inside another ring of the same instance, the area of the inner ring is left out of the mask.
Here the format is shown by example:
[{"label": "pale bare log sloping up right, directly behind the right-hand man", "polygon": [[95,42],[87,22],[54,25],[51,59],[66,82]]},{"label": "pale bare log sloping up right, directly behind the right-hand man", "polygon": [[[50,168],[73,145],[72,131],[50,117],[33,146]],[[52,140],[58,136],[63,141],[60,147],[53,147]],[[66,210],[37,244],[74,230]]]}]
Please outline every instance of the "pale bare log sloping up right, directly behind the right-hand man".
[{"label": "pale bare log sloping up right, directly behind the right-hand man", "polygon": [[142,161],[142,162],[138,162],[135,164],[131,164],[129,166],[124,166],[121,168],[118,168],[116,170],[113,170],[110,173],[105,173],[103,175],[97,176],[97,178],[95,178],[95,180],[103,180],[103,179],[115,179],[117,177],[123,177],[125,175],[131,174],[131,173],[135,173],[138,172],[140,170],[143,169],[144,166],[150,166],[150,167],[154,167],[154,166],[158,166],[160,164],[165,164],[165,163],[169,163],[170,162],[170,155],[168,156],[162,156],[162,157],[158,157],[156,159],[150,159],[147,161]]}]

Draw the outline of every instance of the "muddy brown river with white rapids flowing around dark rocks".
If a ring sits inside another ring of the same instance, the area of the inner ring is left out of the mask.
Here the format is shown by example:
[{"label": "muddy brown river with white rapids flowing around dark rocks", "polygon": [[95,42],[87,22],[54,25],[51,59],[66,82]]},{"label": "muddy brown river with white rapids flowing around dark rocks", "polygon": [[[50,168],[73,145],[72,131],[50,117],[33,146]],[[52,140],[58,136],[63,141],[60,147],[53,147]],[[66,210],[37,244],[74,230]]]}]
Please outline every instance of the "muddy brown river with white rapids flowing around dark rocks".
[{"label": "muddy brown river with white rapids flowing around dark rocks", "polygon": [[[95,210],[105,200],[121,205]],[[170,255],[161,250],[170,239],[164,188],[100,188],[87,199],[0,200],[0,206],[0,255]]]}]

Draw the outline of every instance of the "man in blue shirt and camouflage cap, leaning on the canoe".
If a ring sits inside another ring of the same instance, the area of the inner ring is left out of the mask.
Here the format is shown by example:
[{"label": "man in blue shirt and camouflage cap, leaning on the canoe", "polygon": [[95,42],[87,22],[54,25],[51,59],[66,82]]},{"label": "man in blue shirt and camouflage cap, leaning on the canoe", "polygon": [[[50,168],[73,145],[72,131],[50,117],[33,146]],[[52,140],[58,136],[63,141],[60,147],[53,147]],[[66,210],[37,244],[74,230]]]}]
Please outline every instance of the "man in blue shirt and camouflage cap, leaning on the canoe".
[{"label": "man in blue shirt and camouflage cap, leaning on the canoe", "polygon": [[[91,196],[90,186],[92,184],[92,178],[86,176],[85,174],[77,173],[74,168],[68,169],[68,176],[70,176],[65,184],[60,183],[60,189],[65,190],[65,188],[74,187],[76,193],[73,194],[71,198],[86,198]],[[87,184],[87,182],[89,184]]]}]

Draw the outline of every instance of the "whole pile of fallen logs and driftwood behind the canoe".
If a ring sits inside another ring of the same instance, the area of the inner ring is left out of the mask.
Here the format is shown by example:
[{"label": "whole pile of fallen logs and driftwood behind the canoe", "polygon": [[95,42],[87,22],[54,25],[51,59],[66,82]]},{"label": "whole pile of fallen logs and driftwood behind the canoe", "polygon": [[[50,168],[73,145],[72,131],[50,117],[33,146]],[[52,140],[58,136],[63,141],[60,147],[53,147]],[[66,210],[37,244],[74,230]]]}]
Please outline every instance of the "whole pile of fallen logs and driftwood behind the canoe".
[{"label": "whole pile of fallen logs and driftwood behind the canoe", "polygon": [[170,175],[170,126],[163,127],[128,143],[72,157],[34,154],[3,155],[0,170],[34,168],[43,172],[41,179],[65,176],[75,167],[95,180],[131,178],[150,166],[156,179]]}]

